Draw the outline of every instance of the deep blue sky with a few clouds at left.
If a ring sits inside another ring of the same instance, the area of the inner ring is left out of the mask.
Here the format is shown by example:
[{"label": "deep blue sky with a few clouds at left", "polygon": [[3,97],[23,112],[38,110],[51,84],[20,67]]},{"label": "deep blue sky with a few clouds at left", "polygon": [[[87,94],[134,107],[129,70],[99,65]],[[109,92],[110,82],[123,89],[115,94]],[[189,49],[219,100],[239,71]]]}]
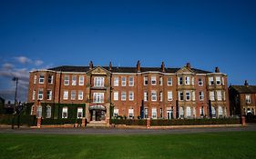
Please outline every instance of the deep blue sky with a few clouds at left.
[{"label": "deep blue sky with a few clouds at left", "polygon": [[0,95],[26,101],[28,71],[58,65],[192,67],[256,84],[256,1],[0,1]]}]

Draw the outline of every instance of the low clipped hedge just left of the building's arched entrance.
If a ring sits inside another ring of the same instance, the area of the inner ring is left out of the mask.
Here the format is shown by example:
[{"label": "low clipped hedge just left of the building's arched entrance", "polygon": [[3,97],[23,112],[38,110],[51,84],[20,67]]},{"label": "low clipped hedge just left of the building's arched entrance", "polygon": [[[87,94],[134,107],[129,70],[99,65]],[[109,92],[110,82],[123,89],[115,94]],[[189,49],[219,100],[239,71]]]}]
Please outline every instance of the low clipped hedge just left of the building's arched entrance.
[{"label": "low clipped hedge just left of the building's arched entrance", "polygon": [[44,124],[82,124],[82,119],[42,119],[42,125]]}]

